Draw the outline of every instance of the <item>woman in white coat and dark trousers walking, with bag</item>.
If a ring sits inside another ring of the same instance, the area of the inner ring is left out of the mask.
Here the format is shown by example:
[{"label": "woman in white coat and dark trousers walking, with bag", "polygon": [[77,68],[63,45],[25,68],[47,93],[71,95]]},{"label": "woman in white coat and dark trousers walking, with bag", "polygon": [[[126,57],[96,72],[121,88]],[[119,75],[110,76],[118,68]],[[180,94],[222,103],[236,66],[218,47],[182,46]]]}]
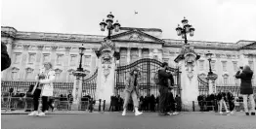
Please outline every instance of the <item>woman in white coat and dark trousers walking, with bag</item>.
[{"label": "woman in white coat and dark trousers walking, with bag", "polygon": [[[28,115],[38,115],[44,116],[45,111],[48,107],[48,97],[53,96],[54,84],[55,81],[55,71],[52,69],[53,65],[51,62],[44,63],[44,68],[40,69],[40,74],[36,76],[37,84],[34,86],[33,102],[34,102],[34,112],[29,113]],[[38,112],[39,107],[39,98],[42,99],[42,112]]]}]

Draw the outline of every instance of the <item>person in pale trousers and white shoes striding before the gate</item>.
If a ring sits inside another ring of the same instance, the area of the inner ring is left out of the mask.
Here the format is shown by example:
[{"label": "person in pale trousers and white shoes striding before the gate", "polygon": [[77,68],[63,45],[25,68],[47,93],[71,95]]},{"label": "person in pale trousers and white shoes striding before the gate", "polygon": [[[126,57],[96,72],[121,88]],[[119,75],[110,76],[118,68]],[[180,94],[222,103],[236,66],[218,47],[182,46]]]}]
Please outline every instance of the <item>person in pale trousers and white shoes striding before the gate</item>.
[{"label": "person in pale trousers and white shoes striding before the gate", "polygon": [[128,80],[126,81],[125,86],[125,100],[123,104],[123,113],[122,115],[126,115],[127,105],[129,102],[130,97],[132,97],[133,103],[134,103],[134,109],[135,109],[135,115],[142,114],[139,112],[139,102],[138,102],[138,89],[141,81],[141,75],[139,74],[138,69],[134,69],[130,76],[128,77]]}]

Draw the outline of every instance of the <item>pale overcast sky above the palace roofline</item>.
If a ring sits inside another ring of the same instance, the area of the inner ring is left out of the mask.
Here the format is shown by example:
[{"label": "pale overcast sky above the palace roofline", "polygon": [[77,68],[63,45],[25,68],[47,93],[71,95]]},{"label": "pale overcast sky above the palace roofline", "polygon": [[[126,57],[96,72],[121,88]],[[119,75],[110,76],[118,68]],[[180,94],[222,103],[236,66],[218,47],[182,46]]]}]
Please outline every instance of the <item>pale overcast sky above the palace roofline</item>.
[{"label": "pale overcast sky above the palace roofline", "polygon": [[[138,15],[135,15],[135,11]],[[99,23],[112,12],[123,27],[160,28],[176,39],[184,16],[192,41],[256,41],[256,0],[1,0],[1,25],[18,31],[107,35]]]}]

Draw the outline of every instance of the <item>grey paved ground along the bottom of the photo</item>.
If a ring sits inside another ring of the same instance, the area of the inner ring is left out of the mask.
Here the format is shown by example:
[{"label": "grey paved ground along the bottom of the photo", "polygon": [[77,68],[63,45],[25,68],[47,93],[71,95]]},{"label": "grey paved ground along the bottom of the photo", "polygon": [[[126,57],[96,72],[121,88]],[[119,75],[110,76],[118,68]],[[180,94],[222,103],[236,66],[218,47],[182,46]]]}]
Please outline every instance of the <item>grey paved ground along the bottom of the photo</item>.
[{"label": "grey paved ground along the bottom of the photo", "polygon": [[144,113],[48,114],[45,117],[3,114],[2,129],[256,129],[256,116],[243,113],[183,113],[158,116]]}]

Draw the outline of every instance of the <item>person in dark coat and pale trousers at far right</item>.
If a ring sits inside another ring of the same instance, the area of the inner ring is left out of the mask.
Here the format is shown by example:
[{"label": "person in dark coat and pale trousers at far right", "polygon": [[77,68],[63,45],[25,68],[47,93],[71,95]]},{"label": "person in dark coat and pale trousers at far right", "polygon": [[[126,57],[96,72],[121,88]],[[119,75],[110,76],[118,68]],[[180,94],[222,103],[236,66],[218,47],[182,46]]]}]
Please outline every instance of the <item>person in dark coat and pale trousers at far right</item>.
[{"label": "person in dark coat and pale trousers at far right", "polygon": [[[252,88],[252,76],[253,72],[248,65],[245,65],[243,68],[240,67],[240,70],[237,71],[235,78],[240,79],[240,94],[243,98],[243,107],[246,115],[249,115],[247,101],[251,104],[251,115],[255,115],[255,102],[253,99],[253,88]],[[248,99],[249,98],[249,99]]]}]

